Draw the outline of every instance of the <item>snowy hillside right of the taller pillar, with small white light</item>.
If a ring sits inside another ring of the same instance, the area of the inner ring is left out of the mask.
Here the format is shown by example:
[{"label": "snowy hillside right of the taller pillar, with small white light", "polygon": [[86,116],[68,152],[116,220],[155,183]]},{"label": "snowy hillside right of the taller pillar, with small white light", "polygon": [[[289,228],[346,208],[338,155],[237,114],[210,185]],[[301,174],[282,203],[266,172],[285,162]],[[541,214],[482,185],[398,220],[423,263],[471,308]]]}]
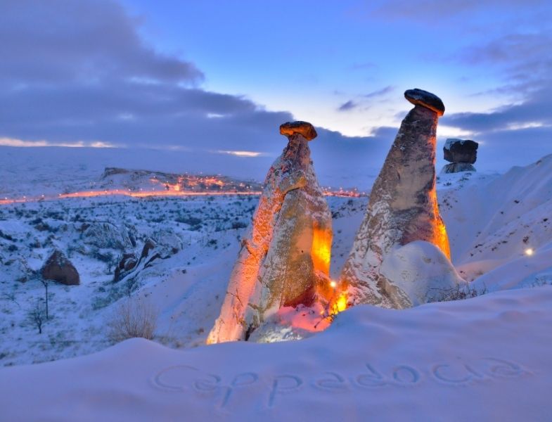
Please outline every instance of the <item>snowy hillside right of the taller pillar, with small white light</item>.
[{"label": "snowy hillside right of the taller pillar, with small white light", "polygon": [[[468,281],[515,261],[507,271],[511,288],[552,267],[552,155],[503,175],[441,175],[439,203],[452,260]],[[500,279],[484,281],[495,290]]]}]

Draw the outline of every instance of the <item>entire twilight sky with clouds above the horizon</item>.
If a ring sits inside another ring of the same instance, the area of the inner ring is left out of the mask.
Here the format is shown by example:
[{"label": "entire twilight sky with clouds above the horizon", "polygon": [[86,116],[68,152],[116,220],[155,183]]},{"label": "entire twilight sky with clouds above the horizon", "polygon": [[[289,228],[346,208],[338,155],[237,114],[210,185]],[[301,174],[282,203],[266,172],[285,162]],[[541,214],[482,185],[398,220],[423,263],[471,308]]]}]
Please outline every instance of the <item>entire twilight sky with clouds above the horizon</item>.
[{"label": "entire twilight sky with clouds above the horizon", "polygon": [[362,177],[414,87],[444,101],[439,142],[480,141],[481,170],[552,153],[552,2],[0,1],[0,145],[167,149],[262,178],[297,119],[319,129],[317,171]]}]

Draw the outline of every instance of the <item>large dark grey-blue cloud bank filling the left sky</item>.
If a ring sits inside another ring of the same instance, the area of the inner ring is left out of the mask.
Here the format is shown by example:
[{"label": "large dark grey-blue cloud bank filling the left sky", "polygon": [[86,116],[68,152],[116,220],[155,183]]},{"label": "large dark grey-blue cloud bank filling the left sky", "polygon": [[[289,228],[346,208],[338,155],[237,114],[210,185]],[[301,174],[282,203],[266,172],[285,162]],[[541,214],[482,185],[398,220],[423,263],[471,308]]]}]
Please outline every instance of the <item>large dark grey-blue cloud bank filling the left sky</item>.
[{"label": "large dark grey-blue cloud bank filling the left sky", "polygon": [[[287,142],[278,127],[293,115],[203,89],[203,72],[146,43],[140,25],[111,0],[4,1],[0,104],[9,107],[0,113],[0,145],[98,147],[103,160],[114,153],[100,147],[155,148],[184,156],[171,161],[182,170],[262,179]],[[368,184],[377,170],[366,157],[381,158],[392,141],[317,130],[313,155],[333,186],[357,184],[352,174]]]}]

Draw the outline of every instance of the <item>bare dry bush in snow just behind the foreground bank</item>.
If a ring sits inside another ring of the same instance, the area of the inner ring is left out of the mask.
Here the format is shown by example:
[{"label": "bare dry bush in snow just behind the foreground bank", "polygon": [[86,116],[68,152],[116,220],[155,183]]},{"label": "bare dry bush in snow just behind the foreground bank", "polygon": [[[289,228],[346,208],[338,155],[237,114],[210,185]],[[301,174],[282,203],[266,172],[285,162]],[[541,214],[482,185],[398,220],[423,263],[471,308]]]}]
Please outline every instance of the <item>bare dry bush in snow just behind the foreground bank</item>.
[{"label": "bare dry bush in snow just behind the foreground bank", "polygon": [[124,300],[108,322],[108,337],[113,343],[136,337],[152,340],[158,314],[146,300]]}]

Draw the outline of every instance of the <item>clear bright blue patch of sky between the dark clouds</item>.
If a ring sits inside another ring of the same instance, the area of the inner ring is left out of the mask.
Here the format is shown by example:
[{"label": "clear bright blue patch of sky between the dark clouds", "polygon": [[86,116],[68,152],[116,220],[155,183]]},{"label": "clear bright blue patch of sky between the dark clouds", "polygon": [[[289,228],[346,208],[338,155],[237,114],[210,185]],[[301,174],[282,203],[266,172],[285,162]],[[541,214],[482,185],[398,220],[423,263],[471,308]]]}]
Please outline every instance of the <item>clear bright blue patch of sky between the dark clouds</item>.
[{"label": "clear bright blue patch of sky between the dark clouds", "polygon": [[[466,25],[455,15],[410,18],[394,15],[389,4],[375,5],[173,1],[160,9],[147,1],[127,2],[147,16],[143,36],[193,58],[205,72],[207,89],[308,115],[350,136],[400,122],[395,114],[409,107],[401,94],[413,86],[450,98],[452,113],[484,111],[504,101],[496,94],[475,103],[464,98],[466,89],[476,94],[503,84],[492,69],[482,72],[454,57],[480,41],[475,22]],[[485,33],[499,36],[498,26]],[[347,103],[354,107],[338,113]]]}]

